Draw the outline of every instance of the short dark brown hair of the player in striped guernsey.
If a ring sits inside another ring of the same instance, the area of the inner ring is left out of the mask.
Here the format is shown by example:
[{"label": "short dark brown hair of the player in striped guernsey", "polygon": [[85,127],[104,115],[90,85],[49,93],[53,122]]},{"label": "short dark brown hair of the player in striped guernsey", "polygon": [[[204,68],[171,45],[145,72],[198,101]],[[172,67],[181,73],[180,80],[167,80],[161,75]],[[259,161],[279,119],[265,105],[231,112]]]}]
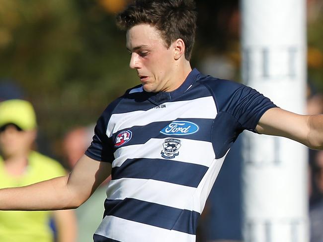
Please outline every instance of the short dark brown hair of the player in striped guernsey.
[{"label": "short dark brown hair of the player in striped guernsey", "polygon": [[190,60],[196,32],[194,0],[134,0],[117,15],[124,30],[138,24],[150,24],[160,31],[167,48],[176,39],[185,43],[185,59]]}]

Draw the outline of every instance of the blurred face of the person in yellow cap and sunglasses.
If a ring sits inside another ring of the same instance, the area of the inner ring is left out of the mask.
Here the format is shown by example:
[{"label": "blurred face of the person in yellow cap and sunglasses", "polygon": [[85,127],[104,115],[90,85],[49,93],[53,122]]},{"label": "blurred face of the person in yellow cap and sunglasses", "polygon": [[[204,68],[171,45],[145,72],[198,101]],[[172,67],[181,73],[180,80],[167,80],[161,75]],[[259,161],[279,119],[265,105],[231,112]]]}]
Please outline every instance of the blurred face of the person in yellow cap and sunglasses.
[{"label": "blurred face of the person in yellow cap and sunglasses", "polygon": [[12,157],[28,152],[35,139],[35,131],[19,130],[14,125],[0,129],[0,150],[5,157]]}]

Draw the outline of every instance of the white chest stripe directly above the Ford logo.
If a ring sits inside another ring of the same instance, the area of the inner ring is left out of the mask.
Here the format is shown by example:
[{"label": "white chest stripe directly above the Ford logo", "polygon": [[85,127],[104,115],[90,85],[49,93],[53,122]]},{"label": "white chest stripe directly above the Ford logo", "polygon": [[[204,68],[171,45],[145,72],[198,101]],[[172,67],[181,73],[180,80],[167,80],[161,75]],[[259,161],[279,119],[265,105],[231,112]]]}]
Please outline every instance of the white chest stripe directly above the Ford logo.
[{"label": "white chest stripe directly above the Ford logo", "polygon": [[106,135],[111,137],[118,130],[144,126],[151,122],[173,121],[176,119],[215,119],[217,115],[213,97],[197,98],[188,101],[164,103],[166,108],[113,114],[109,120]]}]

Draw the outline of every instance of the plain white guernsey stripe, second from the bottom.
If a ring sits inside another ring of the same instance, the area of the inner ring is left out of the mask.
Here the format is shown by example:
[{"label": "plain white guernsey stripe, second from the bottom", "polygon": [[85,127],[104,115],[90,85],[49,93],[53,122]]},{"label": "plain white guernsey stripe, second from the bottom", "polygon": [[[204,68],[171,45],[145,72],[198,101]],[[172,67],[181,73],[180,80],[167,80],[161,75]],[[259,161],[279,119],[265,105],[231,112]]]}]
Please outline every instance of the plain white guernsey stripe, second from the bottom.
[{"label": "plain white guernsey stripe, second from the bottom", "polygon": [[[169,182],[121,178],[112,180],[109,183],[106,194],[108,199],[123,200],[125,198],[135,198],[146,202],[158,203],[190,211],[193,210],[200,213],[200,203],[198,202],[196,206],[192,203],[192,196],[195,192],[195,187]],[[178,197],[178,199],[175,197]]]}]

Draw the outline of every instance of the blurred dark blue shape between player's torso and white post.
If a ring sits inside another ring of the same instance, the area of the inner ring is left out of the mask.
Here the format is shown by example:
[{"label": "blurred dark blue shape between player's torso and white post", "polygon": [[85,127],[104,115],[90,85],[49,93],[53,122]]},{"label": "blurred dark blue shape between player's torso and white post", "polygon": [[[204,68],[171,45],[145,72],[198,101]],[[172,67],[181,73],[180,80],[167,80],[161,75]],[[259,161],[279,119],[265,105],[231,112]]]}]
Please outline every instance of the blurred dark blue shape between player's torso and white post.
[{"label": "blurred dark blue shape between player's torso and white post", "polygon": [[[208,198],[207,242],[242,241],[242,140],[231,147]],[[203,211],[204,212],[204,211]]]}]

